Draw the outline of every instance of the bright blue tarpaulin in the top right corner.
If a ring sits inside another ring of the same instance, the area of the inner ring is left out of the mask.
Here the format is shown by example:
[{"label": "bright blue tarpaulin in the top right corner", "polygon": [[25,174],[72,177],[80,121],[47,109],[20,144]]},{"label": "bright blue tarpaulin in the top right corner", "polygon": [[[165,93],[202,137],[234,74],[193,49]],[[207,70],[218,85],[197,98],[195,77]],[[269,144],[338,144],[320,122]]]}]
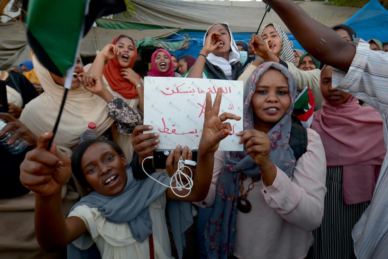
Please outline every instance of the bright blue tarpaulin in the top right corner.
[{"label": "bright blue tarpaulin in the top right corner", "polygon": [[388,10],[378,0],[371,0],[345,24],[352,26],[363,40],[375,38],[388,42]]}]

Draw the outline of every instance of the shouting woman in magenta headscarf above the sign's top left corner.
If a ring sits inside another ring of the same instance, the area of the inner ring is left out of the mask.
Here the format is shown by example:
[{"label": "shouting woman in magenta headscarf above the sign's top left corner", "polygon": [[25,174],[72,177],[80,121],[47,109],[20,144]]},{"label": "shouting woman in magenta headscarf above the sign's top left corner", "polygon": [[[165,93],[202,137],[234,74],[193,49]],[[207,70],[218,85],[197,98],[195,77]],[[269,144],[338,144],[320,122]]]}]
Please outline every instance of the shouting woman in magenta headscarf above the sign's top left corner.
[{"label": "shouting woman in magenta headscarf above the sign's top left corner", "polygon": [[171,55],[164,49],[158,49],[151,56],[151,70],[147,76],[180,77],[179,73],[174,72]]}]

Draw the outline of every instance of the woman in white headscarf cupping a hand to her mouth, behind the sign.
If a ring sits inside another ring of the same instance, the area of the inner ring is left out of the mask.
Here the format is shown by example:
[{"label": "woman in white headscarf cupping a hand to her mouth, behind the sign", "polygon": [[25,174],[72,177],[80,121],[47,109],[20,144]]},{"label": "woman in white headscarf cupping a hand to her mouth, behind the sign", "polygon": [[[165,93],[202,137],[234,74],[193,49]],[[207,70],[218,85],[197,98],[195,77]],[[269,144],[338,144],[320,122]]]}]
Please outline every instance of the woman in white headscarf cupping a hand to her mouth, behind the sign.
[{"label": "woman in white headscarf cupping a hand to her mouth, behind the sign", "polygon": [[227,22],[210,26],[187,77],[237,80],[243,71],[240,52]]}]

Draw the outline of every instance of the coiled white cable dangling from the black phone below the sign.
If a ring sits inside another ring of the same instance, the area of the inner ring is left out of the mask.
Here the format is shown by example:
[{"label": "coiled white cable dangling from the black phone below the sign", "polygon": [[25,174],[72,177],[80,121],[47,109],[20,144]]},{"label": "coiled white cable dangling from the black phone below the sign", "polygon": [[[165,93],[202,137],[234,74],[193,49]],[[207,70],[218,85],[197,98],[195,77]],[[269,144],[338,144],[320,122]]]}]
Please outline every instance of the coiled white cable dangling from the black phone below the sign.
[{"label": "coiled white cable dangling from the black phone below the sign", "polygon": [[[166,151],[165,151],[166,152]],[[168,152],[168,151],[167,151]],[[165,154],[166,155],[166,154]],[[167,154],[168,155],[168,154]],[[171,188],[171,191],[177,195],[178,197],[181,197],[181,198],[184,198],[184,197],[187,197],[189,196],[189,194],[191,193],[191,188],[193,187],[194,185],[194,182],[192,180],[192,176],[193,176],[193,173],[192,173],[192,170],[190,169],[190,167],[186,166],[185,165],[185,162],[183,161],[182,159],[182,156],[179,158],[179,161],[178,161],[178,169],[177,171],[173,174],[173,176],[171,177],[171,180],[170,180],[170,186],[167,186],[166,184],[164,183],[161,183],[159,182],[157,179],[155,179],[154,177],[150,176],[144,169],[144,161],[146,159],[152,159],[153,156],[147,156],[146,158],[143,159],[142,161],[142,168],[143,168],[143,171],[145,172],[145,174],[150,177],[151,179],[153,179],[154,181],[156,181],[157,183],[163,185],[163,186],[166,186],[168,188]],[[191,176],[188,176],[187,174],[185,174],[184,172],[182,172],[182,170],[184,168],[187,168],[190,170],[190,174]],[[184,177],[184,179],[186,179],[187,183],[186,184],[183,184],[182,182],[182,176]],[[175,187],[172,186],[172,184],[174,183],[174,180],[175,180]],[[179,180],[179,181],[178,181]],[[179,195],[178,193],[176,193],[174,191],[174,189],[178,189],[178,191],[182,191],[182,189],[186,189],[186,190],[189,190],[189,192],[186,194],[186,195]]]}]

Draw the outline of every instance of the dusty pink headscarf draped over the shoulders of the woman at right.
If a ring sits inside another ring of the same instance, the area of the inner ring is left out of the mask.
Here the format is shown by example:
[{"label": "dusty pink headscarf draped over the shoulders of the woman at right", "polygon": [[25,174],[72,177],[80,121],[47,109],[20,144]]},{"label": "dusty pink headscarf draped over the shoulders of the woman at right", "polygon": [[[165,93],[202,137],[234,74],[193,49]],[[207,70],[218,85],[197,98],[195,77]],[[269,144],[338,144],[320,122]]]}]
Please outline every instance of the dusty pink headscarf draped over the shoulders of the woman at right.
[{"label": "dusty pink headscarf draped over the shoulders of the woman at right", "polygon": [[353,96],[334,106],[323,98],[322,106],[314,112],[312,129],[322,139],[327,167],[343,167],[345,204],[371,200],[386,153],[381,115]]}]

